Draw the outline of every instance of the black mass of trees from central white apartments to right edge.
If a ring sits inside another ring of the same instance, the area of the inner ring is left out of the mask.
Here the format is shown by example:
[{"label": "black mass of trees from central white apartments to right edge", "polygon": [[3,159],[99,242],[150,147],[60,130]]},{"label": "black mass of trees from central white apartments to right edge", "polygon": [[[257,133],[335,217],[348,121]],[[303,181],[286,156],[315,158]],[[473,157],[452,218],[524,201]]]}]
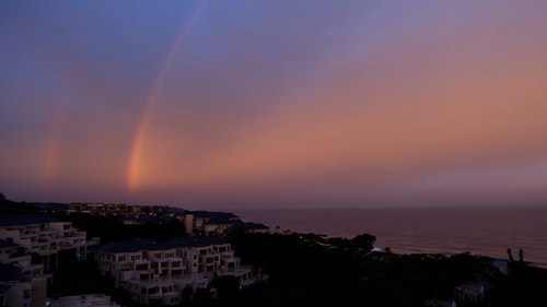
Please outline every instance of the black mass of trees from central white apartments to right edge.
[{"label": "black mass of trees from central white apartments to right edge", "polygon": [[456,286],[478,281],[484,299],[457,306],[547,306],[547,270],[516,262],[504,275],[491,258],[468,252],[363,252],[375,241],[369,234],[344,239],[236,233],[230,240],[243,263],[264,268],[269,284],[209,306],[426,306],[432,297],[457,300]]}]

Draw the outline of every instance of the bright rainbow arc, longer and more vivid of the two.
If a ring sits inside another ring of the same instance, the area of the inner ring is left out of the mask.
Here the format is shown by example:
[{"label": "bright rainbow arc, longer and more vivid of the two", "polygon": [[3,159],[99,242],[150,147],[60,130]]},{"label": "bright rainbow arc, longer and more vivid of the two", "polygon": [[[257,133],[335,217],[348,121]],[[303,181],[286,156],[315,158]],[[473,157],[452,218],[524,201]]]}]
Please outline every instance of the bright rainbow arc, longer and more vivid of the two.
[{"label": "bright rainbow arc, longer and more vivid of the two", "polygon": [[158,94],[167,76],[167,72],[173,66],[173,61],[175,60],[185,38],[188,36],[194,23],[197,17],[206,8],[208,1],[200,1],[198,5],[194,9],[188,21],[183,24],[181,32],[176,36],[173,45],[168,49],[167,56],[163,61],[160,73],[155,79],[155,82],[150,90],[150,93],[147,97],[147,102],[144,105],[144,109],[142,111],[142,116],[140,118],[139,125],[137,126],[137,130],[135,132],[133,143],[131,147],[131,153],[129,156],[129,166],[127,169],[127,188],[132,190],[137,185],[137,179],[139,178],[139,165],[141,163],[141,155],[144,147],[144,139],[147,134],[148,125],[150,121],[150,116],[155,105],[158,104]]}]

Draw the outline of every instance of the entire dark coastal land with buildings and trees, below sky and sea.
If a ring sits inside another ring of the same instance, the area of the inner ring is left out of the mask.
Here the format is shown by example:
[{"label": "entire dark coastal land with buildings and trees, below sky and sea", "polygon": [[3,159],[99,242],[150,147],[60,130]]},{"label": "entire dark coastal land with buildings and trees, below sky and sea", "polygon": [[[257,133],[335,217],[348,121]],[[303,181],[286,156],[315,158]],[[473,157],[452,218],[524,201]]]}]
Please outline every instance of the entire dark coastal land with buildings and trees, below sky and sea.
[{"label": "entire dark coastal land with buildings and trees, below sky and sea", "polygon": [[230,212],[1,198],[0,306],[544,306],[545,269],[397,255]]}]

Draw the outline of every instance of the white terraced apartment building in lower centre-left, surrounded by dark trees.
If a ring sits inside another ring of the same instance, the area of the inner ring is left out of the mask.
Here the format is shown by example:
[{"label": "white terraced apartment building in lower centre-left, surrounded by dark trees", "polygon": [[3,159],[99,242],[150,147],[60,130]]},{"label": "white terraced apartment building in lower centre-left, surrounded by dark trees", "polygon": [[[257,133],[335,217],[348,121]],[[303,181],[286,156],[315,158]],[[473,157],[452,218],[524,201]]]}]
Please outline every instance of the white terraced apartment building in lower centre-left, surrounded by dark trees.
[{"label": "white terraced apartment building in lower centre-left, surrounded by dark trees", "polygon": [[214,275],[236,276],[241,286],[261,279],[241,265],[229,243],[214,237],[109,243],[96,250],[95,260],[103,275],[144,305],[179,304],[184,288],[207,288]]}]

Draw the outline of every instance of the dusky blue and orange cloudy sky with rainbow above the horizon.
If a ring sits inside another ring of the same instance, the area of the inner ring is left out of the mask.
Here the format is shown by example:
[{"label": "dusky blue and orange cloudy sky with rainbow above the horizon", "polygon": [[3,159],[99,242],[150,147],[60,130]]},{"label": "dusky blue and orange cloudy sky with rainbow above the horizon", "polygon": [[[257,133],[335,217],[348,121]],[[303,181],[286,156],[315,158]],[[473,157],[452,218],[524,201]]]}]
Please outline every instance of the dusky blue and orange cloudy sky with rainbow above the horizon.
[{"label": "dusky blue and orange cloudy sky with rainbow above the horizon", "polygon": [[0,191],[547,204],[547,1],[1,1]]}]

